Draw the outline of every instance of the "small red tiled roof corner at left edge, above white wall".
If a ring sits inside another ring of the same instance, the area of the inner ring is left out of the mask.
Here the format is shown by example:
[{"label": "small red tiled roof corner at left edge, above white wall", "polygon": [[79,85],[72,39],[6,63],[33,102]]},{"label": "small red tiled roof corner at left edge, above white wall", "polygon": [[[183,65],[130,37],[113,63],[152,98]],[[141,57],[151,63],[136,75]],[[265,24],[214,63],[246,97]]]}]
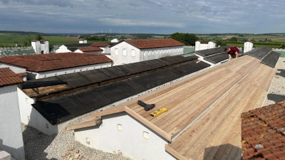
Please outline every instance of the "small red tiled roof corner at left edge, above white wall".
[{"label": "small red tiled roof corner at left edge, above white wall", "polygon": [[0,68],[0,87],[16,85],[24,82],[19,75],[16,75],[10,68]]}]

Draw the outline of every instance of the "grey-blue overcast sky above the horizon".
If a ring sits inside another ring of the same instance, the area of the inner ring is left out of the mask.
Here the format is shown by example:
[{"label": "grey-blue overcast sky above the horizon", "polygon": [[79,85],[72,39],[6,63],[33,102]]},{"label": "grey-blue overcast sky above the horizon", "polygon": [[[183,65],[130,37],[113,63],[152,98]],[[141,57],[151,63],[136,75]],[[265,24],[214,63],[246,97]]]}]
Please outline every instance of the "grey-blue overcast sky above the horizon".
[{"label": "grey-blue overcast sky above the horizon", "polygon": [[284,33],[285,0],[0,0],[0,31]]}]

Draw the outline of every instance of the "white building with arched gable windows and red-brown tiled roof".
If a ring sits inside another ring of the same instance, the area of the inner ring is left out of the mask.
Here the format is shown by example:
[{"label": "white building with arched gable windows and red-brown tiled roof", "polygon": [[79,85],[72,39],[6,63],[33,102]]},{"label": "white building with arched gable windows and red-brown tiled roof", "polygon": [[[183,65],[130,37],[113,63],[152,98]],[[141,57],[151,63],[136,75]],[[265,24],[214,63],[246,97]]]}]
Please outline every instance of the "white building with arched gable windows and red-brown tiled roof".
[{"label": "white building with arched gable windows and red-brown tiled roof", "polygon": [[121,41],[110,48],[114,65],[183,54],[183,43],[171,38]]}]

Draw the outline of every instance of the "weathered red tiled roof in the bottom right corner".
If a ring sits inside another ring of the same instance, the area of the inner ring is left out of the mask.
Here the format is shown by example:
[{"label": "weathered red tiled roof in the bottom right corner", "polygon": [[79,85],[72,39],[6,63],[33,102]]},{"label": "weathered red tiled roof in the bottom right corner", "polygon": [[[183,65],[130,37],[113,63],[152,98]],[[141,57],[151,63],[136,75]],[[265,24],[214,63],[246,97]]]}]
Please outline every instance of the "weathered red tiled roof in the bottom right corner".
[{"label": "weathered red tiled roof in the bottom right corner", "polygon": [[285,159],[285,104],[242,113],[243,159]]}]

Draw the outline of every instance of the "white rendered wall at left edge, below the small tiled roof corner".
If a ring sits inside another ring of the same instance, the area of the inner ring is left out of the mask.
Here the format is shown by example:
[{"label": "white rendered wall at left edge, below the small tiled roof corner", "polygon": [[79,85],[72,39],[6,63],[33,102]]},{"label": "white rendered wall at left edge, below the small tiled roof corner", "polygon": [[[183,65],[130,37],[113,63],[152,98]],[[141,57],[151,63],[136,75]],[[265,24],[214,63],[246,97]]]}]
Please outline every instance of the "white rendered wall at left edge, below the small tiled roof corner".
[{"label": "white rendered wall at left edge, below the small tiled roof corner", "polygon": [[25,159],[16,85],[0,87],[0,149]]}]

